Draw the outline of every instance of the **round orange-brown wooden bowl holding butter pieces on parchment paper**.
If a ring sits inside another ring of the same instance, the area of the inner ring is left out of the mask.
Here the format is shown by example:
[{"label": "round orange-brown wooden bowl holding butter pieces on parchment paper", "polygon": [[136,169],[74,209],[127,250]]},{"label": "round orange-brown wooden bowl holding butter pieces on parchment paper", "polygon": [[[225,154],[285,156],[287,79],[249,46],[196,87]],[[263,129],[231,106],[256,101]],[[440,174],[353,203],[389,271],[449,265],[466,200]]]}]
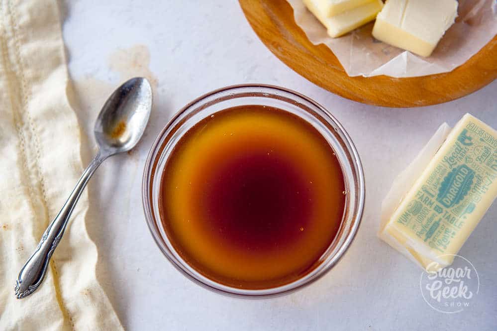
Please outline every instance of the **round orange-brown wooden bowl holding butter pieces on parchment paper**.
[{"label": "round orange-brown wooden bowl holding butter pieces on parchment paper", "polygon": [[436,105],[464,97],[497,78],[497,36],[449,73],[349,77],[328,47],[307,39],[286,0],[239,2],[254,31],[280,60],[312,83],[350,100],[385,107]]}]

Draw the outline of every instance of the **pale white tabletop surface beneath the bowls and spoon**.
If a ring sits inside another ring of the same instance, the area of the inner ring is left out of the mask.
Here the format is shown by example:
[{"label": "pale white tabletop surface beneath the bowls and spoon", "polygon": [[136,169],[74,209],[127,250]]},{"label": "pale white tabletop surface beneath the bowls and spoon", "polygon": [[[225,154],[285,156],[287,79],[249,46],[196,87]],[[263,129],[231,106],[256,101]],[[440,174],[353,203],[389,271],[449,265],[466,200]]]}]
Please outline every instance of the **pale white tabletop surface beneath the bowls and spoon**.
[{"label": "pale white tabletop surface beneath the bowls and spoon", "polygon": [[[76,108],[90,135],[84,137],[86,160],[106,94],[147,66],[158,80],[143,143],[132,155],[105,162],[90,186],[88,227],[99,249],[98,277],[127,330],[497,330],[497,204],[461,250],[477,268],[481,289],[472,307],[456,315],[428,307],[420,269],[376,237],[382,198],[440,123],[453,125],[469,111],[497,127],[497,81],[434,107],[372,107],[290,70],[261,43],[237,1],[74,0],[65,11]],[[136,45],[149,50],[149,65],[133,53]],[[127,70],[109,60],[118,49],[126,49],[120,56],[128,60],[136,56]],[[152,241],[141,206],[146,154],[171,114],[205,92],[249,82],[297,90],[333,112],[357,146],[367,187],[362,225],[340,263],[297,293],[256,301],[211,293],[181,275]]]}]

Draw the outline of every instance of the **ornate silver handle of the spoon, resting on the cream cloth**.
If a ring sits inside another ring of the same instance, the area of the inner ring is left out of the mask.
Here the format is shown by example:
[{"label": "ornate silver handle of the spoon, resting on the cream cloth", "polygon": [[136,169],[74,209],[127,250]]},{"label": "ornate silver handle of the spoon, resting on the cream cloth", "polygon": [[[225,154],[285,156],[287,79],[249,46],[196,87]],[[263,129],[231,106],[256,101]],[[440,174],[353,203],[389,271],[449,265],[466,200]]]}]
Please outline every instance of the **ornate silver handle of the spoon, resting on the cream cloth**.
[{"label": "ornate silver handle of the spoon, resting on the cream cloth", "polygon": [[15,297],[17,299],[22,299],[27,297],[40,286],[47,273],[48,264],[50,262],[50,257],[59,244],[64,230],[66,228],[67,222],[73,212],[81,193],[86,187],[88,180],[92,177],[93,173],[99,165],[106,159],[106,156],[102,156],[100,152],[92,160],[88,168],[81,176],[78,184],[74,188],[73,192],[67,199],[66,203],[60,210],[59,214],[55,219],[48,225],[47,229],[41,237],[40,243],[33,255],[27,260],[27,262],[22,267],[19,272],[19,276],[15,282]]}]

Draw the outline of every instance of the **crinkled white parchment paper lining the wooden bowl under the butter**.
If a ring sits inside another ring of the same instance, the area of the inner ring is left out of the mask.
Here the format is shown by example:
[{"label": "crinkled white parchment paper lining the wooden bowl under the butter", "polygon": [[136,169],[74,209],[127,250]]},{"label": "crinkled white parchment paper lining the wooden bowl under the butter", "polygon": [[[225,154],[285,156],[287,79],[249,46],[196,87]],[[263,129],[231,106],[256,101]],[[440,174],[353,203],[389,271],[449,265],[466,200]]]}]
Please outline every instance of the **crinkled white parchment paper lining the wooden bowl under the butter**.
[{"label": "crinkled white parchment paper lining the wooden bowl under the butter", "polygon": [[416,77],[450,72],[497,34],[497,1],[459,0],[456,23],[447,30],[433,54],[423,58],[373,38],[374,22],[343,37],[330,38],[302,0],[288,2],[294,8],[297,25],[310,42],[328,46],[349,76]]}]

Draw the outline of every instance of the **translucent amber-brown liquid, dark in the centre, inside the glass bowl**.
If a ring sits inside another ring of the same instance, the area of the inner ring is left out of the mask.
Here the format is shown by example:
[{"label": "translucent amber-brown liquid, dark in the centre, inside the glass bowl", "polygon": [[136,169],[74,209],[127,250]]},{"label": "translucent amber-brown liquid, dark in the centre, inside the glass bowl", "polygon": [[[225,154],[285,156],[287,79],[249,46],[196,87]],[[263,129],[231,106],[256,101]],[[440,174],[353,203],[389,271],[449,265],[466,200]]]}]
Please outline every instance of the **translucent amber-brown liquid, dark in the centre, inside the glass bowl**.
[{"label": "translucent amber-brown liquid, dark in the centre, inside the glass bowl", "polygon": [[243,289],[301,278],[342,221],[333,150],[276,108],[222,110],[186,133],[161,178],[160,216],[178,253],[206,277]]}]

